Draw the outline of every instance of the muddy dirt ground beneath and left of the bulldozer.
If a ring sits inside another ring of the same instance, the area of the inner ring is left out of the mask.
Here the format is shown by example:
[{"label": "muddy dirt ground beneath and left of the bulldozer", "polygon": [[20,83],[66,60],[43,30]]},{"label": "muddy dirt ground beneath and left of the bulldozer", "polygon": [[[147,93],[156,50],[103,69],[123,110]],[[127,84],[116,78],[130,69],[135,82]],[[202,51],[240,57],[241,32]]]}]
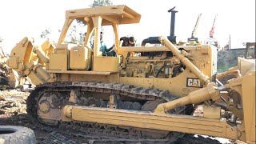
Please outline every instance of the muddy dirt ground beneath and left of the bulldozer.
[{"label": "muddy dirt ground beneath and left of the bulldozer", "polygon": [[[26,126],[34,130],[36,135],[37,143],[46,143],[45,140],[49,137],[51,132],[38,129],[37,126],[31,122],[26,114],[26,98],[29,96],[29,92],[22,92],[19,90],[1,90],[0,91],[0,125],[10,126]],[[73,140],[78,143],[136,143],[140,144],[143,142],[96,142],[94,140],[81,138],[74,138],[70,135],[62,134],[66,139]],[[53,142],[54,143],[54,142]],[[234,143],[225,138],[205,138],[200,135],[185,134],[182,138],[179,138],[175,144],[179,143]]]}]

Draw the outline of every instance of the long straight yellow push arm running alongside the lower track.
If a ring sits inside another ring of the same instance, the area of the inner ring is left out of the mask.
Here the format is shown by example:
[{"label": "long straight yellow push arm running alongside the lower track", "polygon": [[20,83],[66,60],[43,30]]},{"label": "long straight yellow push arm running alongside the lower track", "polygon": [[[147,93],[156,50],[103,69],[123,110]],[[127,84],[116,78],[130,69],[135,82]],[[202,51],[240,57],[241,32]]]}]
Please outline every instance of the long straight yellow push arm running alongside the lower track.
[{"label": "long straight yellow push arm running alongside the lower track", "polygon": [[238,138],[236,128],[233,127],[232,129],[226,122],[187,115],[152,114],[135,110],[73,106],[72,119],[118,126],[178,131],[189,134],[206,134],[222,138]]}]

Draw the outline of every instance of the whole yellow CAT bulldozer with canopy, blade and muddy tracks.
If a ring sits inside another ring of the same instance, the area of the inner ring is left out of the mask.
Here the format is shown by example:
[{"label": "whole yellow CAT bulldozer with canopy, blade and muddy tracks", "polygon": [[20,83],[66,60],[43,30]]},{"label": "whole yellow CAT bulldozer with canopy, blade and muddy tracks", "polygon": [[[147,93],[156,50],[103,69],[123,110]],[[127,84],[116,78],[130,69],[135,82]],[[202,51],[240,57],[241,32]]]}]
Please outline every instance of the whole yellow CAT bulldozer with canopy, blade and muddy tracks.
[{"label": "whole yellow CAT bulldozer with canopy, blade and muddy tracks", "polygon": [[[255,62],[239,58],[238,77],[218,86],[213,46],[178,46],[166,37],[162,46],[120,46],[118,26],[140,18],[125,5],[67,10],[50,54],[23,38],[7,64],[37,85],[27,99],[33,122],[85,138],[173,142],[187,133],[255,143]],[[83,46],[65,43],[74,20],[86,23]],[[102,26],[113,28],[116,57],[102,56]],[[200,103],[204,117],[193,116]]]}]

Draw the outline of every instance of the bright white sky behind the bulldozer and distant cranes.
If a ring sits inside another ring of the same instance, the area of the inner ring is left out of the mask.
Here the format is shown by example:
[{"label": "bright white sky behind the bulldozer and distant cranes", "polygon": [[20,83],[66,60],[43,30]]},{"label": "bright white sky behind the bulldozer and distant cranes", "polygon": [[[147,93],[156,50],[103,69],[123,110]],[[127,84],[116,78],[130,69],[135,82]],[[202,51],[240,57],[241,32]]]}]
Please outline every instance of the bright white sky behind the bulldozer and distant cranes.
[{"label": "bright white sky behind the bulldozer and distant cranes", "polygon": [[[198,14],[197,37],[203,42],[215,21],[214,38],[225,45],[231,38],[231,48],[241,48],[243,42],[255,42],[255,0],[112,0],[114,5],[125,4],[139,14],[141,22],[119,26],[119,37],[134,35],[138,42],[150,36],[170,35],[170,13],[176,6],[175,35],[178,40],[191,37]],[[41,45],[42,30],[56,31],[52,38],[58,42],[65,10],[89,7],[93,0],[8,0],[0,4],[0,37],[7,53],[25,36],[34,38]],[[41,43],[40,43],[41,42]]]}]

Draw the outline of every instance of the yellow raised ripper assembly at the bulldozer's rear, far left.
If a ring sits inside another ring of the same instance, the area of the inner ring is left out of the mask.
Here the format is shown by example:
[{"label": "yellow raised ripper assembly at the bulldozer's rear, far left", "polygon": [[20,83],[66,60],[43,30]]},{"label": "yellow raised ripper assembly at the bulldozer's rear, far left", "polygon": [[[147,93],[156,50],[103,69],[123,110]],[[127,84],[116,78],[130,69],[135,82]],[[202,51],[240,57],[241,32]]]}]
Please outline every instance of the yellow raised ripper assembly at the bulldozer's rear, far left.
[{"label": "yellow raised ripper assembly at the bulldozer's rear, far left", "polygon": [[33,55],[36,54],[43,62],[49,62],[49,58],[43,54],[42,50],[38,46],[34,46],[33,39],[23,38],[13,50],[11,50],[10,58],[6,64],[13,70],[18,72],[24,72],[34,85],[42,84],[50,81],[50,75],[46,73],[46,70],[41,64],[34,64],[32,61]]}]

